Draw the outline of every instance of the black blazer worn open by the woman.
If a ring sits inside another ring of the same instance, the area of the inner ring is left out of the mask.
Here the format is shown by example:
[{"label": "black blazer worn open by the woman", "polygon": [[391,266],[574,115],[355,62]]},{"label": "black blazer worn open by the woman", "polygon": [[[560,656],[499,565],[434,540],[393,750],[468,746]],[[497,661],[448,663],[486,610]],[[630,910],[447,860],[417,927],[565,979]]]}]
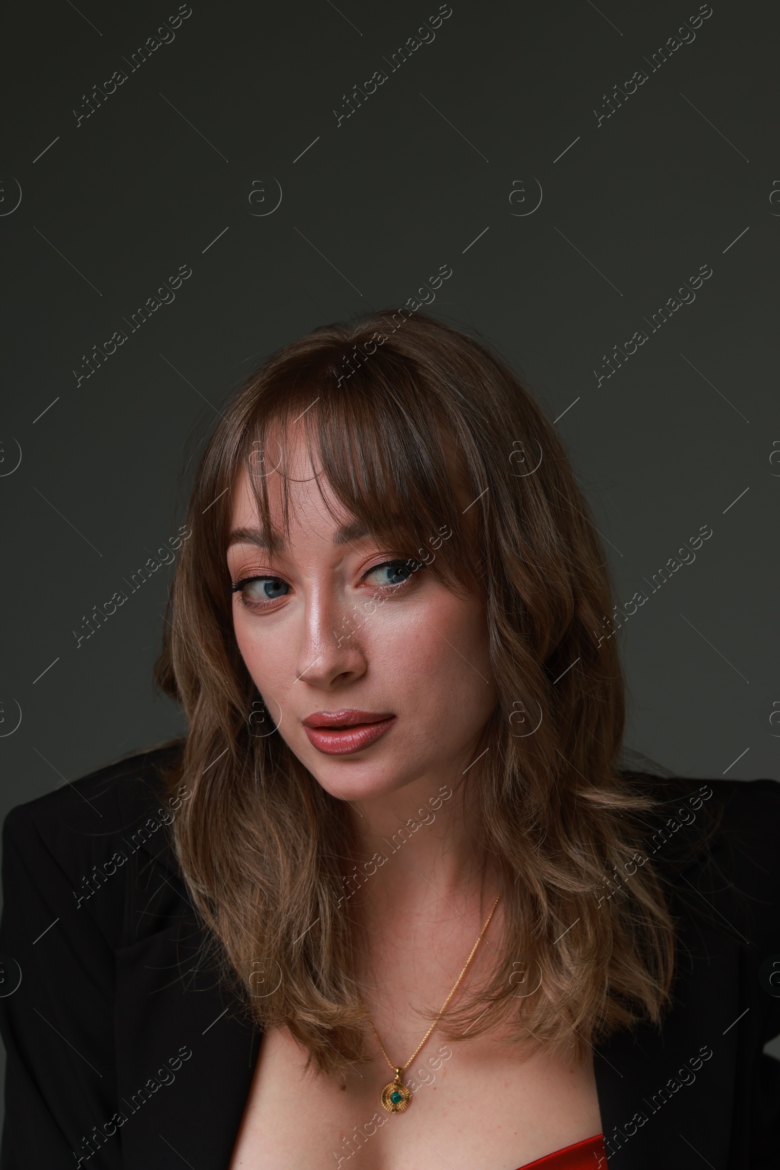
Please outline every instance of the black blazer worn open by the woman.
[{"label": "black blazer worn open by the woman", "polygon": [[[6,819],[0,1170],[229,1163],[260,1033],[213,973],[171,849],[158,769],[178,750],[112,764]],[[696,805],[683,798],[702,782],[658,784],[675,803],[647,852],[679,921],[675,1004],[661,1031],[596,1049],[609,1165],[776,1170],[780,1062],[762,1047],[780,1032],[765,962],[780,961],[780,784],[706,782],[692,824],[672,814]],[[709,865],[700,849],[684,860],[704,807],[723,813]]]}]

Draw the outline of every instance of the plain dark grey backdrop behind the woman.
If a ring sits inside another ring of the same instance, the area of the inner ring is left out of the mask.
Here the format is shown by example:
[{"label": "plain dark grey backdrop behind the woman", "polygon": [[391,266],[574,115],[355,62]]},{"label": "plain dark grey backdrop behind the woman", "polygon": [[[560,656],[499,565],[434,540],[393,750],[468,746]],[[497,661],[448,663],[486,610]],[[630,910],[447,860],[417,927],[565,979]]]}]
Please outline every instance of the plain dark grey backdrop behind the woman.
[{"label": "plain dark grey backdrop behind the woman", "polygon": [[[433,311],[525,374],[619,599],[649,593],[620,634],[627,742],[690,777],[778,777],[778,8],[715,0],[654,70],[698,4],[453,0],[391,71],[437,8],[193,0],[134,71],[177,4],[7,16],[4,814],[182,729],[151,682],[171,569],[76,634],[182,522],[187,461],[237,379],[319,324],[403,304],[441,264]],[[127,80],[77,125],[116,69]],[[181,264],[175,301],[130,332]],[[703,264],[696,301],[651,333]],[[602,355],[642,328],[599,385]],[[650,593],[700,525],[696,562]]]}]

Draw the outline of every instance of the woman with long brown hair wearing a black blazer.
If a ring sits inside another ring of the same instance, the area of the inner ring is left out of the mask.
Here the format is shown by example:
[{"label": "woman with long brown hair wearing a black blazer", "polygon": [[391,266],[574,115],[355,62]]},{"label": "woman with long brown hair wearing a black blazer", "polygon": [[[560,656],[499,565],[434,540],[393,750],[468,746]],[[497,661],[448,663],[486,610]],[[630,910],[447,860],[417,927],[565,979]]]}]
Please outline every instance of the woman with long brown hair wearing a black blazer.
[{"label": "woman with long brown hair wearing a black blazer", "polygon": [[621,770],[605,557],[510,370],[316,330],[187,522],[186,741],[6,821],[0,1170],[775,1165],[780,787]]}]

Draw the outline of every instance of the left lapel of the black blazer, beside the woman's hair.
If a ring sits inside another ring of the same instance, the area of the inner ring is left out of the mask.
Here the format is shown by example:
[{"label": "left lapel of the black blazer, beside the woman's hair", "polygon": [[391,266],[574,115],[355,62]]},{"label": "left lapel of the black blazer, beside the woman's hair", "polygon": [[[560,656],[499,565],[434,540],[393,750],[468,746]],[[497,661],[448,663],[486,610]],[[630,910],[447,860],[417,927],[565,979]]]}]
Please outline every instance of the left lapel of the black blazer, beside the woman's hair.
[{"label": "left lapel of the black blazer, beside the woman's hair", "polygon": [[143,847],[129,907],[136,941],[115,952],[123,1165],[227,1170],[261,1032],[220,980],[166,835]]}]

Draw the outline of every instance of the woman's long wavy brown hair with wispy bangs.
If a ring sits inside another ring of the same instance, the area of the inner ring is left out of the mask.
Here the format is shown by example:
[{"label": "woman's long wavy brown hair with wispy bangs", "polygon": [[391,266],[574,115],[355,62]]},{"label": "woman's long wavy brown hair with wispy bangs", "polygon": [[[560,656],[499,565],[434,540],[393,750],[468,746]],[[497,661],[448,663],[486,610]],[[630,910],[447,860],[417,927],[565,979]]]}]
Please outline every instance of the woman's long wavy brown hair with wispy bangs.
[{"label": "woman's long wavy brown hair with wispy bangs", "polygon": [[[268,474],[277,457],[284,473],[296,420],[351,516],[448,587],[484,597],[499,697],[462,784],[483,855],[501,872],[504,936],[489,978],[443,1017],[446,1034],[502,1021],[582,1052],[637,1019],[657,1021],[672,921],[640,860],[649,800],[620,772],[623,679],[588,505],[555,428],[506,363],[442,322],[391,310],[272,355],[227,404],[195,476],[158,681],[188,718],[171,784],[192,797],[173,832],[225,975],[257,1024],[285,1024],[317,1069],[366,1059],[340,895],[345,873],[367,859],[356,855],[345,803],[274,729],[233,633],[233,487],[247,468],[270,534]],[[453,459],[472,501],[476,560]],[[613,870],[623,878],[614,897]]]}]

